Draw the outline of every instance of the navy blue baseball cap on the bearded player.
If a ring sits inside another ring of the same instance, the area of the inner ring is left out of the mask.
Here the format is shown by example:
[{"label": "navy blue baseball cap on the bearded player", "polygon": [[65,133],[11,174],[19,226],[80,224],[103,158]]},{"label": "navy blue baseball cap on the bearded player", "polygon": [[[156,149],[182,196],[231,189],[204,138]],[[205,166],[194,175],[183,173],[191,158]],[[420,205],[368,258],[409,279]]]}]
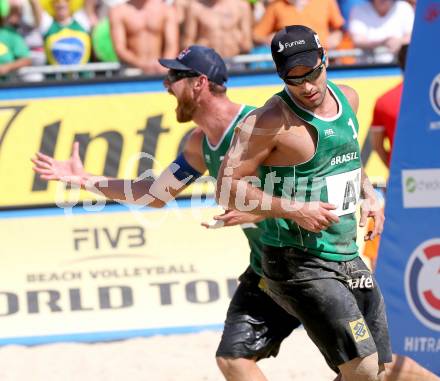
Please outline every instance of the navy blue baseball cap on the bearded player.
[{"label": "navy blue baseball cap on the bearded player", "polygon": [[228,70],[220,55],[211,48],[191,45],[182,50],[175,59],[161,58],[159,63],[167,69],[195,71],[204,74],[218,85],[228,80]]}]

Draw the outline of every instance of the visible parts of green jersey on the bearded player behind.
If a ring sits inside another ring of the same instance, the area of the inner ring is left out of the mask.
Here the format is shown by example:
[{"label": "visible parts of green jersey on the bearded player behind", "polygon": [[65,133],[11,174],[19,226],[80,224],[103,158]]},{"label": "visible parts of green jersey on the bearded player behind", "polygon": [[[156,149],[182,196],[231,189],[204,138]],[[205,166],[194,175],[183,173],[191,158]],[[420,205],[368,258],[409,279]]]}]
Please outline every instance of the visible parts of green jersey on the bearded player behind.
[{"label": "visible parts of green jersey on the bearded player behind", "polygon": [[[203,158],[205,160],[206,167],[209,174],[215,178],[218,176],[218,170],[225,157],[226,152],[231,145],[232,138],[234,136],[234,130],[237,124],[243,120],[255,107],[242,106],[235,119],[225,131],[223,137],[218,144],[213,147],[207,137],[203,138]],[[246,238],[248,239],[251,249],[250,264],[252,269],[259,275],[262,275],[261,271],[261,256],[262,256],[262,243],[260,237],[262,235],[262,222],[257,224],[245,224],[242,225],[242,229]]]}]

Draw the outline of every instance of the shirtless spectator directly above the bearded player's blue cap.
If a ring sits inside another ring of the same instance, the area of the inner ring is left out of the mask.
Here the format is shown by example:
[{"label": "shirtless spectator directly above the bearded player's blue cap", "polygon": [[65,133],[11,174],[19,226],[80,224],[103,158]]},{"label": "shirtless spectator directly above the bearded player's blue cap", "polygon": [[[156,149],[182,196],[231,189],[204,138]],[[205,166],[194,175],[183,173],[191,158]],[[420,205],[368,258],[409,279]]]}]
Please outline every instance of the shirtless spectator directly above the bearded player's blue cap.
[{"label": "shirtless spectator directly above the bearded player's blue cap", "polygon": [[252,49],[252,12],[245,0],[193,0],[188,9],[183,42],[215,49],[233,57]]}]

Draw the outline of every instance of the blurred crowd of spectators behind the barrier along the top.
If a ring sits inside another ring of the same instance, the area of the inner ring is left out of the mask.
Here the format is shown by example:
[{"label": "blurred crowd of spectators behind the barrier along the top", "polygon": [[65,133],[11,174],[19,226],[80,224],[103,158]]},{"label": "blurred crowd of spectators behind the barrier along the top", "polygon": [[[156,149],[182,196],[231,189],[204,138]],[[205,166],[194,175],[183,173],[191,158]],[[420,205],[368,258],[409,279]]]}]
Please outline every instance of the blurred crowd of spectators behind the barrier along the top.
[{"label": "blurred crowd of spectators behind the barrier along the top", "polygon": [[193,44],[216,49],[231,70],[271,69],[272,36],[292,24],[318,33],[333,66],[395,63],[410,40],[414,7],[406,0],[0,0],[0,79],[163,75],[157,60]]}]

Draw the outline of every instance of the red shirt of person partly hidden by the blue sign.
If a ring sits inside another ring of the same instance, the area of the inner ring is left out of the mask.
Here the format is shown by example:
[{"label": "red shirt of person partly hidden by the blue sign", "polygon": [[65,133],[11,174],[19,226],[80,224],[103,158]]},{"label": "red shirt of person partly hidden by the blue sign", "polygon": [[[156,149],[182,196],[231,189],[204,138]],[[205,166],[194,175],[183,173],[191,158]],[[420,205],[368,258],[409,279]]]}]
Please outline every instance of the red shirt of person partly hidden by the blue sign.
[{"label": "red shirt of person partly hidden by the blue sign", "polygon": [[373,121],[371,129],[384,130],[385,136],[390,141],[390,151],[388,152],[388,166],[390,164],[391,152],[396,130],[397,118],[399,117],[400,99],[402,97],[403,82],[387,91],[376,101],[374,106]]}]

